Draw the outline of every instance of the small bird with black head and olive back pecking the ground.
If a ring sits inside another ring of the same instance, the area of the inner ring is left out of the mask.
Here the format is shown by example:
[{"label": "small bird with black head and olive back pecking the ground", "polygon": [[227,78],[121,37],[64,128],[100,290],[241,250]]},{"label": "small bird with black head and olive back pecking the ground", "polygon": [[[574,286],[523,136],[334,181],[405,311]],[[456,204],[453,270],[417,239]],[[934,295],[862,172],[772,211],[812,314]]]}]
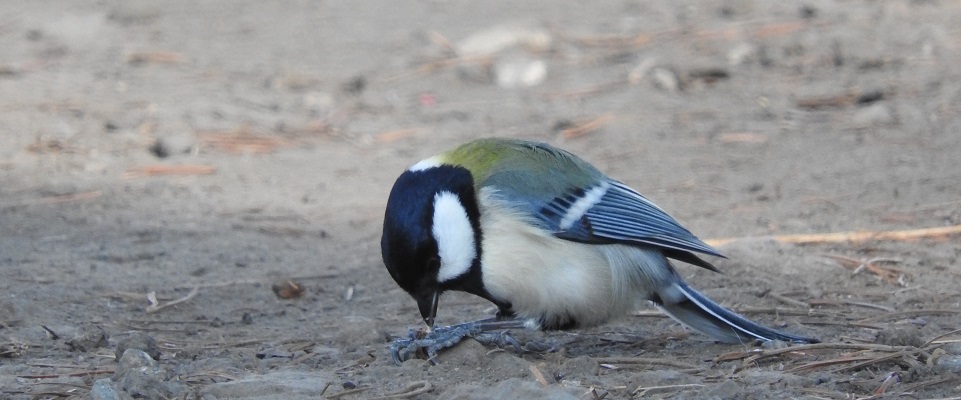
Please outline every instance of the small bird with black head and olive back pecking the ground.
[{"label": "small bird with black head and olive back pecking the ground", "polygon": [[[818,342],[748,320],[688,286],[671,260],[720,272],[701,256],[721,252],[634,189],[546,143],[483,138],[413,164],[390,191],[381,254],[428,328],[391,345],[397,362],[505,328],[597,326],[647,302],[724,343]],[[435,327],[448,291],[490,301],[496,316]]]}]

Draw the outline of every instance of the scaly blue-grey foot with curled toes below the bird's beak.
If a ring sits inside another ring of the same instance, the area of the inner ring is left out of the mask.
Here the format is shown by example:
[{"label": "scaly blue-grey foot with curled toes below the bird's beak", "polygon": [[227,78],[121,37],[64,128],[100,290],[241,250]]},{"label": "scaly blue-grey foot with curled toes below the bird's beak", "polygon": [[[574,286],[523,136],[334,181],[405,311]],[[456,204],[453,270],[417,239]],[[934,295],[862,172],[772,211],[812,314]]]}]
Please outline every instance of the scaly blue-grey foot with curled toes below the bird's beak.
[{"label": "scaly blue-grey foot with curled toes below the bird's beak", "polygon": [[513,347],[522,352],[523,347],[507,331],[490,332],[475,323],[451,325],[434,328],[430,332],[411,329],[406,338],[395,340],[390,344],[390,356],[395,364],[426,355],[431,363],[436,364],[437,352],[453,347],[464,338],[471,337],[485,345]]}]

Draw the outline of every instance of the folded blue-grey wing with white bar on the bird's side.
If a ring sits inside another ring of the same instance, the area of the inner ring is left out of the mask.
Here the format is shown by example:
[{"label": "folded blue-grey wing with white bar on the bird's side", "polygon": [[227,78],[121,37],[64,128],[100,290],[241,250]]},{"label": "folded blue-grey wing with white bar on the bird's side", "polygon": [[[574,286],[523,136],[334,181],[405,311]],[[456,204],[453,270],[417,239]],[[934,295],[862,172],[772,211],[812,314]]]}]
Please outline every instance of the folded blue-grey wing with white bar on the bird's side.
[{"label": "folded blue-grey wing with white bar on the bird's side", "polygon": [[723,257],[640,193],[617,181],[573,188],[543,204],[536,217],[555,236],[584,243],[651,245],[664,255],[717,271],[692,253]]}]

